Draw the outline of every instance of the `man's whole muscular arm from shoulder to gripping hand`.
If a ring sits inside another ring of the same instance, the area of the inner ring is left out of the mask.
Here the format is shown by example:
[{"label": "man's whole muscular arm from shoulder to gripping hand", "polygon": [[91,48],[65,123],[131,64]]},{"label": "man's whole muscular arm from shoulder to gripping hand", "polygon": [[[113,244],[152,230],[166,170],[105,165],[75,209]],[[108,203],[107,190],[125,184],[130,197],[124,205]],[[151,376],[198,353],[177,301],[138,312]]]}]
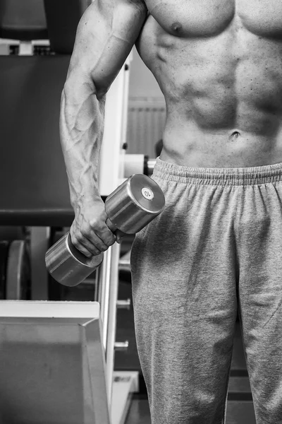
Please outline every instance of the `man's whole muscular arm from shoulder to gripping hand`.
[{"label": "man's whole muscular arm from shoulder to gripping hand", "polygon": [[97,182],[105,96],[146,16],[143,0],[95,0],[78,25],[61,97],[60,134],[75,211],[71,240],[88,257],[116,241],[105,224]]}]

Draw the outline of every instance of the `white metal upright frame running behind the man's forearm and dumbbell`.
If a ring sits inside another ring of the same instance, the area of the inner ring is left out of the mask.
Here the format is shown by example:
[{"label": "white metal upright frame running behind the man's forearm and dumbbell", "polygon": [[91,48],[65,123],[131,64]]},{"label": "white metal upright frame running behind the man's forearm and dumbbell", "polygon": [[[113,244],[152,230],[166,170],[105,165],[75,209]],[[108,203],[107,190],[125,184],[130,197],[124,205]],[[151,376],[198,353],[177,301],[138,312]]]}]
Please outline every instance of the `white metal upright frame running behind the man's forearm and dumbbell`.
[{"label": "white metal upright frame running behind the man's forearm and dumbbell", "polygon": [[[99,160],[99,192],[108,196],[124,178],[128,85],[132,53],[112,84],[106,97],[104,138]],[[115,349],[126,348],[128,342],[116,343],[116,309],[118,303],[118,264],[121,247],[117,243],[104,253],[99,269],[99,302],[103,325],[103,343],[106,354],[107,394],[112,424],[123,424],[130,407],[131,394],[138,389],[138,373],[122,373],[116,380],[114,372]]]}]

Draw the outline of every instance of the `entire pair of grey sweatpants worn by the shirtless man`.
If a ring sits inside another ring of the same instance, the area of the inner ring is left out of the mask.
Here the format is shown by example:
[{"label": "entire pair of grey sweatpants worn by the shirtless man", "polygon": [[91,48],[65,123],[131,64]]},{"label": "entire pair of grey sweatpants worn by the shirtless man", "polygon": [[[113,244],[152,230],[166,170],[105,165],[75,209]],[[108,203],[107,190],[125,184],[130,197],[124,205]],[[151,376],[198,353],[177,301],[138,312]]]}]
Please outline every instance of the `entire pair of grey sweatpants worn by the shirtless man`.
[{"label": "entire pair of grey sweatpants worn by the shirtless man", "polygon": [[257,424],[282,423],[282,163],[157,160],[166,208],[133,243],[152,424],[222,424],[237,309]]}]

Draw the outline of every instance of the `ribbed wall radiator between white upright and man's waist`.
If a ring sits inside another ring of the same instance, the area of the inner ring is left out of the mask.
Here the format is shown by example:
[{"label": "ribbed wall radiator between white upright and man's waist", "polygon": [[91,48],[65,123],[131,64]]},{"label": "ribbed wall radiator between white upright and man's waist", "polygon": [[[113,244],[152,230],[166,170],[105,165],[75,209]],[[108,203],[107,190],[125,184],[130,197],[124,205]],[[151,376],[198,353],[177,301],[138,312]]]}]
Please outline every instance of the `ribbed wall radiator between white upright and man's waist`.
[{"label": "ribbed wall radiator between white upright and man's waist", "polygon": [[155,144],[162,138],[166,105],[159,98],[130,98],[126,141],[128,153],[142,153],[155,158]]}]

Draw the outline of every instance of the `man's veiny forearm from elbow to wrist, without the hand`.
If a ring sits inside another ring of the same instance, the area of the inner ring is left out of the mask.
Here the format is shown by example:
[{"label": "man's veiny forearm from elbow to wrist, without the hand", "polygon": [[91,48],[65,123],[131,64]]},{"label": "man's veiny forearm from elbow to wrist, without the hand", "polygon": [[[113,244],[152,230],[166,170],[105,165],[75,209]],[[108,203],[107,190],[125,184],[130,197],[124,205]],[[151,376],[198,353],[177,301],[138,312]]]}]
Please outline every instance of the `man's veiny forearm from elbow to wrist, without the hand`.
[{"label": "man's veiny forearm from elbow to wrist, without the hand", "polygon": [[105,96],[97,99],[90,78],[68,74],[61,96],[60,134],[73,208],[99,196],[104,105]]}]

